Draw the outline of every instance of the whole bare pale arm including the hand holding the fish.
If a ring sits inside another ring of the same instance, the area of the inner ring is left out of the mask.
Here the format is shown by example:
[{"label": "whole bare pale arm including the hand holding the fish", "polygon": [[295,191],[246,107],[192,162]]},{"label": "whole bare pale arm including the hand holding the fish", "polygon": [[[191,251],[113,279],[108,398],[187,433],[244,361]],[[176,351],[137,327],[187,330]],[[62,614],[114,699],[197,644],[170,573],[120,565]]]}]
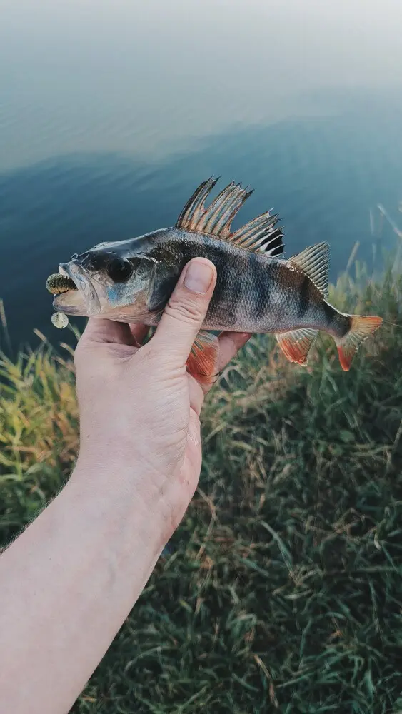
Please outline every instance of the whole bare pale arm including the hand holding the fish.
[{"label": "whole bare pale arm including the hand holding the fish", "polygon": [[[81,337],[76,469],[0,558],[1,712],[69,711],[196,490],[206,388],[186,359],[216,272],[191,263],[149,343],[102,320]],[[221,336],[217,370],[248,337]]]}]

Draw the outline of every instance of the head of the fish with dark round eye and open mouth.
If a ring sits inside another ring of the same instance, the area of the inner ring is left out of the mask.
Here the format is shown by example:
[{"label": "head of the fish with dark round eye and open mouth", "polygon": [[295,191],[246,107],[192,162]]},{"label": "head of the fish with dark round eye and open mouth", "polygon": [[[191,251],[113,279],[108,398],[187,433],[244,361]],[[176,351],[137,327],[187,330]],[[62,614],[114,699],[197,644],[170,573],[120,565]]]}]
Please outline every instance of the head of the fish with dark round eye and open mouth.
[{"label": "head of the fish with dark round eye and open mouth", "polygon": [[59,264],[76,289],[56,295],[54,308],[66,315],[144,319],[157,261],[121,243],[101,243]]}]

